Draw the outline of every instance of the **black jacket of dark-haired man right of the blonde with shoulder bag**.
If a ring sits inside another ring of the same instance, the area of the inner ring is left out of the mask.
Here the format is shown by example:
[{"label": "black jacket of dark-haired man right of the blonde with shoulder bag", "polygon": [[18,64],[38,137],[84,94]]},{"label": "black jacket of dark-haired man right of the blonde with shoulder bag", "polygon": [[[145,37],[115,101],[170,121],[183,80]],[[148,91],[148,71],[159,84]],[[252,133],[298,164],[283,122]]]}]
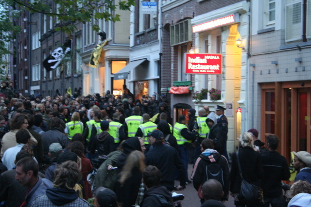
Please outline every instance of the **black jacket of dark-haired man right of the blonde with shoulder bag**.
[{"label": "black jacket of dark-haired man right of the blonde with shoulder bag", "polygon": [[263,196],[268,198],[282,195],[281,180],[288,180],[291,176],[287,160],[276,151],[266,151],[261,154],[263,179]]}]

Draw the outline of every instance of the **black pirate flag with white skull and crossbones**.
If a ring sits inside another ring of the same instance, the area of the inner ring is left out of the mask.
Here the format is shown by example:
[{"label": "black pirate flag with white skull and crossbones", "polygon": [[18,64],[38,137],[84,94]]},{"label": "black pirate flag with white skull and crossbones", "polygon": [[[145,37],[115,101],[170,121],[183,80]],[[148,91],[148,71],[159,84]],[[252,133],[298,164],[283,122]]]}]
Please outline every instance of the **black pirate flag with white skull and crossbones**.
[{"label": "black pirate flag with white skull and crossbones", "polygon": [[67,40],[62,47],[54,49],[52,54],[50,54],[44,61],[43,66],[49,72],[55,69],[61,61],[64,59],[65,55],[71,50],[71,40]]}]

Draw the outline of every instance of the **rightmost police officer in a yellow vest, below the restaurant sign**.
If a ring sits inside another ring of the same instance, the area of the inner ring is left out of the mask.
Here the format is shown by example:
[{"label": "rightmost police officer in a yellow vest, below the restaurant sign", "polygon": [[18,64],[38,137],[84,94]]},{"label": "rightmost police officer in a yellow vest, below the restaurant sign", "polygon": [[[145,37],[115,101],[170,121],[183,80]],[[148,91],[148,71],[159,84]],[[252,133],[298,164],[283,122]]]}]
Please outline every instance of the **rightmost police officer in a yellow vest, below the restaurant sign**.
[{"label": "rightmost police officer in a yellow vest, below the restaurant sign", "polygon": [[194,161],[195,163],[196,159],[200,156],[201,154],[201,142],[203,141],[204,138],[206,138],[207,133],[209,132],[209,128],[206,123],[207,119],[207,114],[206,110],[204,108],[200,109],[198,111],[199,117],[196,118],[196,123],[198,127],[198,134],[197,134],[197,139],[195,140],[195,150],[194,150]]}]

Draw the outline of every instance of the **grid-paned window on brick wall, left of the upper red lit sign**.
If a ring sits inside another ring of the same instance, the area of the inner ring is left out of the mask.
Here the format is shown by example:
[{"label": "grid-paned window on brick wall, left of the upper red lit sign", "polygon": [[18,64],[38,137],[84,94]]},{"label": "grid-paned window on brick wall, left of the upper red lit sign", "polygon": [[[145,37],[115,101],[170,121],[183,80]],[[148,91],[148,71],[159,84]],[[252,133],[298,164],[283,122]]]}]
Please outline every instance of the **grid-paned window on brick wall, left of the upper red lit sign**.
[{"label": "grid-paned window on brick wall, left of the upper red lit sign", "polygon": [[185,20],[170,27],[171,46],[192,41],[190,20]]}]

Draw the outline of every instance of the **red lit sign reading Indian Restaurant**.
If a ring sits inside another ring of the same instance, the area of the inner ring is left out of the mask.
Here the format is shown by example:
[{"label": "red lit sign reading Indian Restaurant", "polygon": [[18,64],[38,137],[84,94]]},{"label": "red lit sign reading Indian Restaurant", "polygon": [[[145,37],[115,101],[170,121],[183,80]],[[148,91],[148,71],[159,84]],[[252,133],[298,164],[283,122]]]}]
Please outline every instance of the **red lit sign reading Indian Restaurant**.
[{"label": "red lit sign reading Indian Restaurant", "polygon": [[186,53],[186,74],[221,74],[222,54]]}]

